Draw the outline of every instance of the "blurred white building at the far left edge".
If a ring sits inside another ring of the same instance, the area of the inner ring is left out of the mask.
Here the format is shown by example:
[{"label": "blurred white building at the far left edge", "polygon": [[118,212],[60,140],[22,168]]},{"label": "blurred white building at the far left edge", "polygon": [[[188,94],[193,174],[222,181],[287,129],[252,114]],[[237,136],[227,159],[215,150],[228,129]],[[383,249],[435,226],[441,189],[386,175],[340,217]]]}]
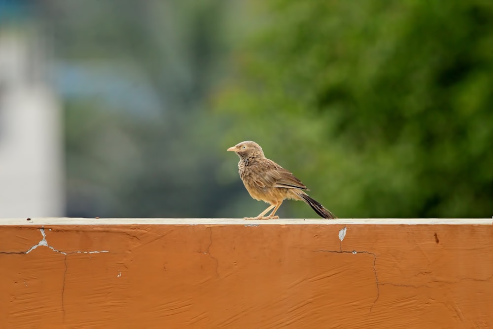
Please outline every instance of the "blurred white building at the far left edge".
[{"label": "blurred white building at the far left edge", "polygon": [[0,26],[0,220],[65,214],[62,110],[37,33]]}]

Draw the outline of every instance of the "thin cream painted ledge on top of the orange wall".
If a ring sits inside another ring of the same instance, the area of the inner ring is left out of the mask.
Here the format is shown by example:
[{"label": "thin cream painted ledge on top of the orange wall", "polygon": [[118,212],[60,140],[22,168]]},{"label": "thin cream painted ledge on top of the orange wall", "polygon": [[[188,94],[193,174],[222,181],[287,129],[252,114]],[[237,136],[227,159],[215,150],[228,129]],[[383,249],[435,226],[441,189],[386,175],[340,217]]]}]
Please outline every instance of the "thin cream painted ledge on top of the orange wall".
[{"label": "thin cream painted ledge on top of the orange wall", "polygon": [[26,218],[0,219],[3,225],[492,225],[493,219],[385,218],[385,219],[270,219],[246,220],[229,218]]}]

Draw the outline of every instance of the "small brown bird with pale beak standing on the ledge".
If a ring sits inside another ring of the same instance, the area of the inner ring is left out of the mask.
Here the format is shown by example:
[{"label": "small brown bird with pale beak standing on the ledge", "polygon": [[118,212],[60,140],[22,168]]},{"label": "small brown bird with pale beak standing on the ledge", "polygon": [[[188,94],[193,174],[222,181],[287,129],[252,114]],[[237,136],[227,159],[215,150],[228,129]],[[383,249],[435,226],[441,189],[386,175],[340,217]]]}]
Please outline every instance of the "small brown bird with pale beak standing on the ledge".
[{"label": "small brown bird with pale beak standing on the ledge", "polygon": [[[240,177],[250,196],[270,204],[257,217],[245,219],[278,219],[279,216],[275,214],[284,199],[303,200],[315,210],[318,216],[326,219],[336,218],[303,191],[308,191],[308,188],[299,179],[276,162],[267,159],[262,147],[257,143],[241,142],[228,148],[228,151],[236,152],[240,157],[240,162],[238,162]],[[272,213],[264,217],[272,208],[274,208]]]}]

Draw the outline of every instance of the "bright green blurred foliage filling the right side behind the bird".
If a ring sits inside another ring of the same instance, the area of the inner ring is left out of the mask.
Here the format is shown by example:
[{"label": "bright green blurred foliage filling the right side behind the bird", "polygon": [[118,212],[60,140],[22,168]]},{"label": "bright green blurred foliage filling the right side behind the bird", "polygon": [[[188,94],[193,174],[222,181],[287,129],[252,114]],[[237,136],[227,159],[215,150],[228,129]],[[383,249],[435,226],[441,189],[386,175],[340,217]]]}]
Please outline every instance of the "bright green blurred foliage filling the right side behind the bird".
[{"label": "bright green blurred foliage filling the right side behind the bird", "polygon": [[228,140],[339,217],[492,216],[493,2],[269,2],[216,95]]}]

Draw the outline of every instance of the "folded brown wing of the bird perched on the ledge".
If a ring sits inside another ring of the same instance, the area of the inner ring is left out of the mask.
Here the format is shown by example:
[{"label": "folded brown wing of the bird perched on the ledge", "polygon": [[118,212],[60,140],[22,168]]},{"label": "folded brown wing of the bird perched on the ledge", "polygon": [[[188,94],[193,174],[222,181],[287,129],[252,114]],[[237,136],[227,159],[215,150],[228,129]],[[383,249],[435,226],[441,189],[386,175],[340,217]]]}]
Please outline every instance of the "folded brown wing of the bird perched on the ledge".
[{"label": "folded brown wing of the bird perched on the ledge", "polygon": [[284,187],[284,188],[300,188],[308,190],[299,179],[294,177],[292,173],[282,168],[280,165],[271,161],[265,164],[266,168],[255,177],[255,183],[260,187]]}]

